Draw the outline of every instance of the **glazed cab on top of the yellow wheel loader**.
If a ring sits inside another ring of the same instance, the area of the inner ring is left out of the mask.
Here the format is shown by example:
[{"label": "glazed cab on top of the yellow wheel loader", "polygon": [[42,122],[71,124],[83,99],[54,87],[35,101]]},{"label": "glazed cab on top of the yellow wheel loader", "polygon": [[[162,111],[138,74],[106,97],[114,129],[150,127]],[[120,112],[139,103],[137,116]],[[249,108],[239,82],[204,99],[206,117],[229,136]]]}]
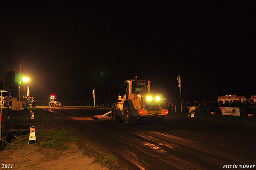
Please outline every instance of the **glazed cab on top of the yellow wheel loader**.
[{"label": "glazed cab on top of the yellow wheel loader", "polygon": [[126,100],[136,99],[138,95],[150,93],[150,80],[126,80],[124,86]]}]

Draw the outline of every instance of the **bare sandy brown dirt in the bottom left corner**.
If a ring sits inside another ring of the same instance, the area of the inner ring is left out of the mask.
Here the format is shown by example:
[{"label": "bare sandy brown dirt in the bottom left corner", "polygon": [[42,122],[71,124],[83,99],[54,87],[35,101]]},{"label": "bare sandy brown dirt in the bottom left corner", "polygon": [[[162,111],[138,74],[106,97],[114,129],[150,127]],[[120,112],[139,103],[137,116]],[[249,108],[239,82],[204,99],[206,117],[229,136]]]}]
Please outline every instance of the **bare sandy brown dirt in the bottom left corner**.
[{"label": "bare sandy brown dirt in the bottom left corner", "polygon": [[7,164],[17,170],[108,170],[94,163],[93,158],[84,156],[76,145],[71,149],[58,151],[29,144],[18,150],[4,150],[1,152],[0,162],[3,169]]}]

